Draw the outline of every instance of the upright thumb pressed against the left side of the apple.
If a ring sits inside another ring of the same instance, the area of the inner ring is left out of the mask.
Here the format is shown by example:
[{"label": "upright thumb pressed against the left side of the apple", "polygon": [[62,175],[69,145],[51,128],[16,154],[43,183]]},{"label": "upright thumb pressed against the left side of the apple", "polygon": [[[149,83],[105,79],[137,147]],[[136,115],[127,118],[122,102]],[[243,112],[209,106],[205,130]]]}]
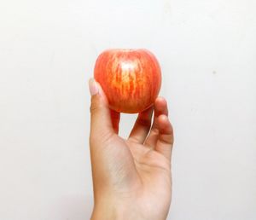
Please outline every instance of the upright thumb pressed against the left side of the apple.
[{"label": "upright thumb pressed against the left side of the apple", "polygon": [[113,135],[108,99],[94,78],[89,80],[90,89],[90,139],[106,142]]}]

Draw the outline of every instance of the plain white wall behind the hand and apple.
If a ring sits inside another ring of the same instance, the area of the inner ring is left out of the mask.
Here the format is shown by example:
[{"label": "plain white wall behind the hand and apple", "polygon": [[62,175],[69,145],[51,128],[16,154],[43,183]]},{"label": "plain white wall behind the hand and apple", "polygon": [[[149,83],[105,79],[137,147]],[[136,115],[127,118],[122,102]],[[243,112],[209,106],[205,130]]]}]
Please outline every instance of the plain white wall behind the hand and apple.
[{"label": "plain white wall behind the hand and apple", "polygon": [[255,0],[0,0],[0,218],[90,218],[87,80],[108,48],[160,61],[168,219],[255,220]]}]

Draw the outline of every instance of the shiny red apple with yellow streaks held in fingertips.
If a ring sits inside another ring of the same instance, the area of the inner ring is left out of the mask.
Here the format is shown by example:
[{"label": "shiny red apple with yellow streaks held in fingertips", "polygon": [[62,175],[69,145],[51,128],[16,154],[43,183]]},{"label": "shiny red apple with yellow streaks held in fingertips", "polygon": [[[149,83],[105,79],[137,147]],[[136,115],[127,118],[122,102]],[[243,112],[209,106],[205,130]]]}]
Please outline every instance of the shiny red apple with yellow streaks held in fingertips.
[{"label": "shiny red apple with yellow streaks held in fingertips", "polygon": [[160,92],[160,64],[147,49],[103,51],[96,60],[94,78],[101,84],[109,107],[119,113],[143,112]]}]

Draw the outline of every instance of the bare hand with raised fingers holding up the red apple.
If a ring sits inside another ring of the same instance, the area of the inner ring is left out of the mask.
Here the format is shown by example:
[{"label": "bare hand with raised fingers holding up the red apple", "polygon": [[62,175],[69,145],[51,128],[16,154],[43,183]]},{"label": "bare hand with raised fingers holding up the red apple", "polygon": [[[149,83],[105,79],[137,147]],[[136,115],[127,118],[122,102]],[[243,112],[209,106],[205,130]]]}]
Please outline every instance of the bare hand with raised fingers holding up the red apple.
[{"label": "bare hand with raised fingers holding up the red apple", "polygon": [[139,113],[126,140],[118,136],[120,114],[108,108],[108,100],[94,79],[90,79],[90,93],[95,197],[91,219],[166,219],[172,195],[173,144],[166,100],[158,97],[154,107]]}]

